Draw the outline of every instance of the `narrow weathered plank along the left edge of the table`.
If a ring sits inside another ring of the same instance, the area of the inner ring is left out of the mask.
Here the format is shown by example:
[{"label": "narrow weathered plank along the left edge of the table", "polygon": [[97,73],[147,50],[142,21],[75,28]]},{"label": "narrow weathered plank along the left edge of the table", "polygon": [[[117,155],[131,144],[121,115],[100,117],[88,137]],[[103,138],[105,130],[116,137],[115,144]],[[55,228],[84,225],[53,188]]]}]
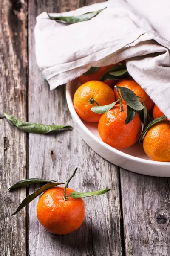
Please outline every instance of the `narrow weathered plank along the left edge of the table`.
[{"label": "narrow weathered plank along the left edge of the table", "polygon": [[26,134],[3,111],[26,120],[27,1],[0,1],[0,255],[26,254],[26,211],[11,217],[26,189],[8,192],[26,178]]}]

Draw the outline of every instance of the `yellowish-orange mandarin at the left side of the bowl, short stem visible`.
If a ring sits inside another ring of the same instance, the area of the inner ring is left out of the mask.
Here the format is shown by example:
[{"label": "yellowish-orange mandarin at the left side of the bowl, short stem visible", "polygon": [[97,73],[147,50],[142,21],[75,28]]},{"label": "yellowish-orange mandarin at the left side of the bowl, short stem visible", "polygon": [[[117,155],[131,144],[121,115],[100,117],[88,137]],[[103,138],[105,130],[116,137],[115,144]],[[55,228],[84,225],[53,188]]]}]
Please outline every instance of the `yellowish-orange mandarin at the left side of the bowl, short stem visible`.
[{"label": "yellowish-orange mandarin at the left side of the bowl, short stem visible", "polygon": [[101,114],[94,113],[91,108],[108,105],[115,101],[114,92],[101,81],[88,81],[82,84],[74,94],[73,104],[77,114],[86,122],[99,122]]}]

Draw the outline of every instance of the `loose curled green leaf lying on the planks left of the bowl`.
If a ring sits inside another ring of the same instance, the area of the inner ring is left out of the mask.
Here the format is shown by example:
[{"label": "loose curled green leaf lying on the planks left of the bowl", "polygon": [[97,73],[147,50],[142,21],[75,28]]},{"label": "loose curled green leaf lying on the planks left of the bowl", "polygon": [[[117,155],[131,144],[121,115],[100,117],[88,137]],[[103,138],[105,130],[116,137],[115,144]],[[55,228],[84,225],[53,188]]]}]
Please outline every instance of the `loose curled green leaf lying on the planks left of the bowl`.
[{"label": "loose curled green leaf lying on the planks left of the bowl", "polygon": [[46,134],[50,131],[58,131],[61,129],[73,130],[73,127],[70,125],[43,125],[31,122],[24,122],[20,119],[10,116],[7,113],[4,113],[6,119],[10,122],[11,125],[17,126],[21,131],[31,132],[35,134]]}]

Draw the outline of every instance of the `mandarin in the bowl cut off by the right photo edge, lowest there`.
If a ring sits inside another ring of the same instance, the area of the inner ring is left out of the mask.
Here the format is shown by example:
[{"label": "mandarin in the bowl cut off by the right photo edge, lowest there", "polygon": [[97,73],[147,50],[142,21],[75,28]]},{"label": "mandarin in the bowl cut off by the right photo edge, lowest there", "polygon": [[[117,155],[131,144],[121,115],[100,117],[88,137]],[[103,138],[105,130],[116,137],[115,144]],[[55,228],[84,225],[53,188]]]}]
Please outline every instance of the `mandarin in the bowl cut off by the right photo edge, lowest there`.
[{"label": "mandarin in the bowl cut off by the right photo edge, lowest there", "polygon": [[170,162],[170,121],[153,125],[143,140],[144,151],[154,161]]}]

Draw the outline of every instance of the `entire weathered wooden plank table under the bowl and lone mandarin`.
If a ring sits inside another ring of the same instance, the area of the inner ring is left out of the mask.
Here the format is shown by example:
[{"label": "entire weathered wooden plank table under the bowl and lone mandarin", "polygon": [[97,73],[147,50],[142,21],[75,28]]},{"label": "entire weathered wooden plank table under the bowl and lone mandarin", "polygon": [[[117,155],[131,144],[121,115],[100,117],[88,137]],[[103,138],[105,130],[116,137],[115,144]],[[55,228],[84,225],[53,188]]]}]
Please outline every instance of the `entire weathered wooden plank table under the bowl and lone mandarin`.
[{"label": "entire weathered wooden plank table under the bowl and lone mandarin", "polygon": [[[73,125],[65,86],[50,91],[40,76],[34,54],[35,18],[47,9],[64,12],[91,3],[95,0],[0,1],[1,256],[170,255],[170,179],[119,169],[91,150],[76,128],[52,135],[26,134],[3,116],[6,111],[32,122]],[[86,217],[79,230],[65,236],[46,232],[36,217],[38,198],[11,217],[39,186],[8,192],[9,186],[26,177],[66,180],[76,166],[79,171],[71,181],[75,190],[115,188],[85,199]]]}]

